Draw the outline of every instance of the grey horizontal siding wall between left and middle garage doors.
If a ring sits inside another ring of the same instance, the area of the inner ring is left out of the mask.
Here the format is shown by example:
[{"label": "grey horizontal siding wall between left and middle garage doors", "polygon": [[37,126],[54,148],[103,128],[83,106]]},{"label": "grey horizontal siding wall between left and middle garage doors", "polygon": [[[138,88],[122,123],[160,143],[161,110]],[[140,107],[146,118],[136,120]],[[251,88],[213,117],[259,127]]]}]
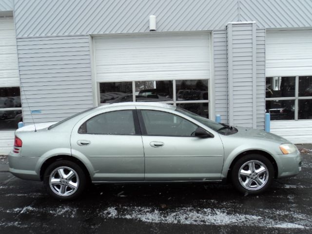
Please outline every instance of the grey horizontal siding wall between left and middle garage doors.
[{"label": "grey horizontal siding wall between left and middle garage doors", "polygon": [[18,39],[24,122],[59,121],[93,107],[88,36]]}]

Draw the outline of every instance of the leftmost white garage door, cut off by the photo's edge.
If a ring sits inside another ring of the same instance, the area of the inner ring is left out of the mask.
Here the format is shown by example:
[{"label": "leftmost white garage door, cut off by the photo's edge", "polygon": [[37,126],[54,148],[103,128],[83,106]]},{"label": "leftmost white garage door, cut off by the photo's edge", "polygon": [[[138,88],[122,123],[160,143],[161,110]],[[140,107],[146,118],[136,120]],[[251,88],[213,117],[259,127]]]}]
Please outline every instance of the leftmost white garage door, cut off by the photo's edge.
[{"label": "leftmost white garage door, cut off by the photo's edge", "polygon": [[0,17],[0,155],[13,147],[20,120],[20,79],[13,17]]}]

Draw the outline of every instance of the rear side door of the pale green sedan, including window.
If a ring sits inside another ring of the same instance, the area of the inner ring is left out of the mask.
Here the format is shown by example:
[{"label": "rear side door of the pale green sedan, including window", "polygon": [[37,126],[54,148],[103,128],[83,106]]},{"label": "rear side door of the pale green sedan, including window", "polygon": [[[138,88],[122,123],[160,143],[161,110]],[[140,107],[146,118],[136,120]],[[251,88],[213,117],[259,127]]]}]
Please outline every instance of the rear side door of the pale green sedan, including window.
[{"label": "rear side door of the pale green sedan, including window", "polygon": [[143,181],[144,152],[135,110],[110,110],[80,120],[71,136],[72,154],[86,156],[93,181]]}]

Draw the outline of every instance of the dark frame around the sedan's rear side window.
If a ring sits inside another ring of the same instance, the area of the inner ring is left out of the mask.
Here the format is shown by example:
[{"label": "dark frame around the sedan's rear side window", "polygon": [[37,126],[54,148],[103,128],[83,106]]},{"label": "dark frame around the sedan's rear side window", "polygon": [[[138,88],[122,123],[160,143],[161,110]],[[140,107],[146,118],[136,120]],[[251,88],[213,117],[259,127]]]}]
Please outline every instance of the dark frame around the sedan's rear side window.
[{"label": "dark frame around the sedan's rear side window", "polygon": [[[97,117],[97,116],[99,116],[99,115],[104,115],[104,114],[112,113],[112,112],[120,112],[120,111],[132,111],[132,117],[133,117],[133,122],[134,122],[134,127],[135,127],[135,134],[103,134],[103,133],[81,133],[81,132],[79,132],[80,128],[81,128],[83,125],[86,125],[87,121],[89,121],[90,119],[92,119],[92,118],[94,118],[94,117]],[[107,111],[107,112],[99,113],[99,114],[94,115],[94,116],[88,118],[87,120],[85,120],[85,121],[78,127],[77,133],[78,133],[78,134],[81,134],[81,135],[141,136],[141,129],[140,129],[139,120],[138,120],[138,117],[137,117],[137,110],[136,110],[136,109],[122,109],[122,110],[114,110],[114,111]]]}]

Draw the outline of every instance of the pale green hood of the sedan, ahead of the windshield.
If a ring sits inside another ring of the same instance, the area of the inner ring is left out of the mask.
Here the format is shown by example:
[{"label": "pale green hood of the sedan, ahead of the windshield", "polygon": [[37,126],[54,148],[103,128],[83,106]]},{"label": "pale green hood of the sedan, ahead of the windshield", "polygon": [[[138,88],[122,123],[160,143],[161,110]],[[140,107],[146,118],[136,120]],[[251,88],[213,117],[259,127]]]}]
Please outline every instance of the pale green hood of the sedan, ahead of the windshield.
[{"label": "pale green hood of the sedan, ahead of the windshield", "polygon": [[230,136],[275,141],[278,143],[291,143],[289,140],[283,137],[279,137],[272,133],[267,133],[263,130],[256,130],[253,128],[244,128],[237,126],[235,126],[235,128],[237,128],[238,132]]}]

